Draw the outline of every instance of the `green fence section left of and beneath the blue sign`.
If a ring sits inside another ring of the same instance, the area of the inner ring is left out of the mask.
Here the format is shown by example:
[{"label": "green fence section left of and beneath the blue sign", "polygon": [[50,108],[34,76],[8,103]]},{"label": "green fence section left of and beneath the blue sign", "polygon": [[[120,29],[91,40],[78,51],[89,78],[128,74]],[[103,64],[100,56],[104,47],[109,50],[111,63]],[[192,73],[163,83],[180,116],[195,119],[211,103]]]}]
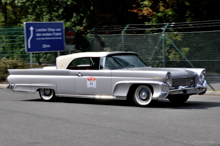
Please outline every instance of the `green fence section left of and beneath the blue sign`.
[{"label": "green fence section left of and beneath the blue sign", "polygon": [[[68,51],[61,52],[61,55]],[[25,51],[24,28],[23,27],[1,27],[0,28],[0,59],[6,57],[13,59],[17,56],[24,62],[30,62],[30,54]],[[57,52],[33,53],[34,63],[55,64]]]}]

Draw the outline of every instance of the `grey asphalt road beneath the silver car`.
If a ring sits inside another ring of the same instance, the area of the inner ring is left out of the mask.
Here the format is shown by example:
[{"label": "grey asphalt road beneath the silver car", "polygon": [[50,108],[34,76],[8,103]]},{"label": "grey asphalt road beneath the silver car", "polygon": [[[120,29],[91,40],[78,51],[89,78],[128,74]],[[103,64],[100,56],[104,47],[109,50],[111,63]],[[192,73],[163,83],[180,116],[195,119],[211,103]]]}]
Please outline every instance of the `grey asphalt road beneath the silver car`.
[{"label": "grey asphalt road beneath the silver car", "polygon": [[140,108],[0,89],[0,146],[219,146],[220,97]]}]

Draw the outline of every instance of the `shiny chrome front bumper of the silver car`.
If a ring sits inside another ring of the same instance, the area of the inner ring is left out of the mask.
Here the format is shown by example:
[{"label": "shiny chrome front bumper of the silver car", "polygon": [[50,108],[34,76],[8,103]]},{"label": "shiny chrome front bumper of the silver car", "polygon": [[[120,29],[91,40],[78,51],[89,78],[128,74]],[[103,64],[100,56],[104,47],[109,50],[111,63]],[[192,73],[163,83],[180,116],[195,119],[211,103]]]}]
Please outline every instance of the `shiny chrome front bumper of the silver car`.
[{"label": "shiny chrome front bumper of the silver car", "polygon": [[171,89],[169,94],[176,95],[176,94],[205,94],[207,90],[207,81],[204,81],[202,85],[197,84],[196,87],[184,87],[179,86],[178,89]]}]

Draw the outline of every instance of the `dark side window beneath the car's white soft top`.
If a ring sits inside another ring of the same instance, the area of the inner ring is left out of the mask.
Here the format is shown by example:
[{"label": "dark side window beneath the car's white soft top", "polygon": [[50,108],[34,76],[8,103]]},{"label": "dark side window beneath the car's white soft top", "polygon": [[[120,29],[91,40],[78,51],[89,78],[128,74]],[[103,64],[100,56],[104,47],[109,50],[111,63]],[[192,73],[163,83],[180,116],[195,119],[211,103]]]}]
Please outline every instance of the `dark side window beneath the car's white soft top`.
[{"label": "dark side window beneath the car's white soft top", "polygon": [[92,58],[92,57],[85,57],[85,58],[77,58],[74,59],[67,69],[73,69],[73,70],[94,70],[99,69],[99,61],[100,58]]}]

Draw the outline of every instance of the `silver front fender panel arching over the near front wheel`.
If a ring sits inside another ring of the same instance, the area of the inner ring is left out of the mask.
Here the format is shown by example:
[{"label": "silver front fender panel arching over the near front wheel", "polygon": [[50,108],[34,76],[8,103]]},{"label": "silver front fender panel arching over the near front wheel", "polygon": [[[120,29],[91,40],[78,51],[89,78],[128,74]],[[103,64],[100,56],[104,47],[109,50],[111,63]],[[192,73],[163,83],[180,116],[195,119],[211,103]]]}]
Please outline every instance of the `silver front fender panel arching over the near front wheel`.
[{"label": "silver front fender panel arching over the near front wheel", "polygon": [[166,74],[166,71],[112,70],[113,95],[126,97],[132,85],[147,85],[152,88],[154,99],[165,98],[169,92],[168,87],[163,85]]}]

